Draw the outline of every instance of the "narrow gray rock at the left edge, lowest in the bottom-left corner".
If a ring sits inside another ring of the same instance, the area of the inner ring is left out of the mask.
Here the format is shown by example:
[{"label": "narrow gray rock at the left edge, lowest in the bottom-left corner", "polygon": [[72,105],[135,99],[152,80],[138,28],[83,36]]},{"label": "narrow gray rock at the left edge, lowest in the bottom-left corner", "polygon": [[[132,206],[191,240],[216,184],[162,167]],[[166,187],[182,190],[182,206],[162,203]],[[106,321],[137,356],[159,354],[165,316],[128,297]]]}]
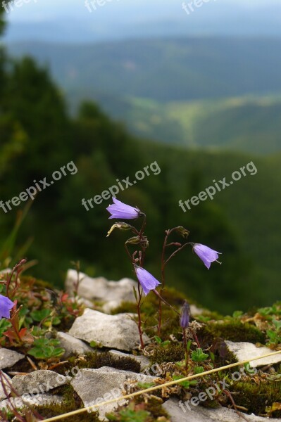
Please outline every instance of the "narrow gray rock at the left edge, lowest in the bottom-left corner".
[{"label": "narrow gray rock at the left edge, lowest in the bottom-left corner", "polygon": [[[35,406],[42,406],[51,403],[62,404],[63,397],[44,393],[36,396],[24,395],[23,397],[11,397],[10,402],[12,402],[17,409],[21,409],[22,407],[27,407],[27,405],[32,404],[35,404]],[[0,402],[0,409],[11,409],[10,402],[8,399]]]}]

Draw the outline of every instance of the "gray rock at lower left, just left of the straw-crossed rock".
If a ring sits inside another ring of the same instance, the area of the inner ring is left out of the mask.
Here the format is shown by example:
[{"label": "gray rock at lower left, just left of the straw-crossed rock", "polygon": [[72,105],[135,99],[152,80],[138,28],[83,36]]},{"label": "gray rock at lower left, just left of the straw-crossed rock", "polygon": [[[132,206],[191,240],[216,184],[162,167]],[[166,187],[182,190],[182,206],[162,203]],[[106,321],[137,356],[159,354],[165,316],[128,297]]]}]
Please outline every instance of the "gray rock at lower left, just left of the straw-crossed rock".
[{"label": "gray rock at lower left, just left of the straw-crossed rock", "polygon": [[39,369],[28,375],[16,375],[13,377],[13,388],[18,395],[39,394],[48,392],[52,388],[59,387],[71,380],[69,376],[59,375],[54,371]]}]

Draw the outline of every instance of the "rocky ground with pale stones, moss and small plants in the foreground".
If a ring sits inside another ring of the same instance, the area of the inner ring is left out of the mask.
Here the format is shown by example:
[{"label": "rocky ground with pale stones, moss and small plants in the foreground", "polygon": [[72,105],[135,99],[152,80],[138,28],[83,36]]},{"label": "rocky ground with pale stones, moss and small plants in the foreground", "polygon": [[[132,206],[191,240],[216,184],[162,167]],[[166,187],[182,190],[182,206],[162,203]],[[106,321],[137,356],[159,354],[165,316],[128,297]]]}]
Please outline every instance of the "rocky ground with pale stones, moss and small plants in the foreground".
[{"label": "rocky ground with pale stones, moss and small plants in the foreground", "polygon": [[[69,270],[66,293],[57,293],[59,300],[42,282],[23,278],[20,283],[22,326],[27,328],[20,334],[21,342],[7,335],[6,320],[0,320],[1,420],[20,420],[15,419],[13,409],[21,409],[23,418],[33,411],[48,418],[187,374],[249,360],[251,366],[246,369],[159,388],[129,401],[106,404],[99,413],[62,420],[258,422],[266,417],[281,422],[281,353],[251,362],[254,357],[281,350],[280,304],[227,317],[192,305],[191,328],[201,347],[187,329],[190,353],[186,372],[178,316],[168,307],[163,309],[163,332],[161,338],[156,336],[158,302],[154,295],[143,305],[146,347],[140,350],[135,281],[92,279],[82,273],[78,280],[77,271]],[[180,309],[184,298],[168,289],[166,299]],[[23,312],[27,305],[32,312]]]}]

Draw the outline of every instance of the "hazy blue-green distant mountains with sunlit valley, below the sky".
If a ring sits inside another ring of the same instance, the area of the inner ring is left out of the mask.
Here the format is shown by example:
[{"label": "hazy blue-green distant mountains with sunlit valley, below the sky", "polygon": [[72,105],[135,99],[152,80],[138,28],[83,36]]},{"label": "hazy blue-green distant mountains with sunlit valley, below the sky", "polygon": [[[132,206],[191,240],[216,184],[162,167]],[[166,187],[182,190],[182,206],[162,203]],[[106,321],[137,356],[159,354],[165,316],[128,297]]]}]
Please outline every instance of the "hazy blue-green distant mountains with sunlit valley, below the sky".
[{"label": "hazy blue-green distant mountains with sunlit valley, below the sky", "polygon": [[98,101],[135,134],[189,147],[281,151],[281,39],[9,44],[49,65],[75,110]]}]

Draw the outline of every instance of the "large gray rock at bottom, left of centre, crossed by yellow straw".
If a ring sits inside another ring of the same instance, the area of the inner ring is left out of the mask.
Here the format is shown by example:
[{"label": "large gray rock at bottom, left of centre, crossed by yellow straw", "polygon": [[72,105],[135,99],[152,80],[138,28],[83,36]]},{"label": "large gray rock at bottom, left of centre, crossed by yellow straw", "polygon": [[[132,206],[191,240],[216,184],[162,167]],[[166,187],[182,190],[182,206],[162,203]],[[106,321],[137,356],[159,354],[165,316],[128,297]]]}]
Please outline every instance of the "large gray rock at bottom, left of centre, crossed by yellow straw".
[{"label": "large gray rock at bottom, left of centre, crossed by yellow straw", "polygon": [[[89,407],[121,397],[126,381],[132,380],[140,383],[151,383],[154,379],[153,376],[146,376],[143,373],[121,371],[108,366],[102,366],[99,369],[81,369],[79,376],[75,376],[73,381],[71,381],[71,385],[77,392],[77,395],[82,399],[84,406]],[[120,400],[118,404],[125,404],[125,400]],[[94,409],[94,411],[99,410],[99,416],[104,418],[105,414],[113,411],[118,404],[106,404]]]}]

